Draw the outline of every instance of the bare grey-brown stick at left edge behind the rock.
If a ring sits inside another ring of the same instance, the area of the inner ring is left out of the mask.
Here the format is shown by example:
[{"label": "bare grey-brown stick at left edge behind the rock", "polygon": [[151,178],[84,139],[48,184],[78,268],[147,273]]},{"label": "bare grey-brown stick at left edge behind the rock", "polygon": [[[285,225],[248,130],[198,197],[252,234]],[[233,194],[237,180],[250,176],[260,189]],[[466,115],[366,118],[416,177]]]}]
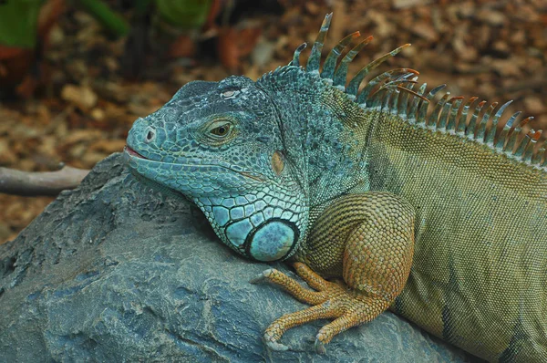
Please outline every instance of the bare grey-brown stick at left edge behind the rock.
[{"label": "bare grey-brown stick at left edge behind the rock", "polygon": [[57,195],[74,189],[88,170],[65,166],[59,171],[16,171],[0,168],[0,192],[22,196]]}]

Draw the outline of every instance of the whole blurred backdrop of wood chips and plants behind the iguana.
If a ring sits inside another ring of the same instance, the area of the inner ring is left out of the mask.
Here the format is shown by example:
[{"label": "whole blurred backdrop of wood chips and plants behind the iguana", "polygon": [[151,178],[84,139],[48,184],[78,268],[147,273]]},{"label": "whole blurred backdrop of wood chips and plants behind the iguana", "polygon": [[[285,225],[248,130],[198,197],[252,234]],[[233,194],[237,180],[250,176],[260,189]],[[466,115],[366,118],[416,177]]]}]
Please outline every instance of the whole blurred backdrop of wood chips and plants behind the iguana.
[{"label": "whole blurred backdrop of wood chips and plants behind the iguana", "polygon": [[[514,99],[510,112],[547,126],[545,0],[0,0],[0,166],[90,169],[183,84],[286,65],[329,12],[325,52],[356,30],[375,36],[350,73],[412,43],[377,72]],[[0,194],[0,243],[51,200]]]}]

